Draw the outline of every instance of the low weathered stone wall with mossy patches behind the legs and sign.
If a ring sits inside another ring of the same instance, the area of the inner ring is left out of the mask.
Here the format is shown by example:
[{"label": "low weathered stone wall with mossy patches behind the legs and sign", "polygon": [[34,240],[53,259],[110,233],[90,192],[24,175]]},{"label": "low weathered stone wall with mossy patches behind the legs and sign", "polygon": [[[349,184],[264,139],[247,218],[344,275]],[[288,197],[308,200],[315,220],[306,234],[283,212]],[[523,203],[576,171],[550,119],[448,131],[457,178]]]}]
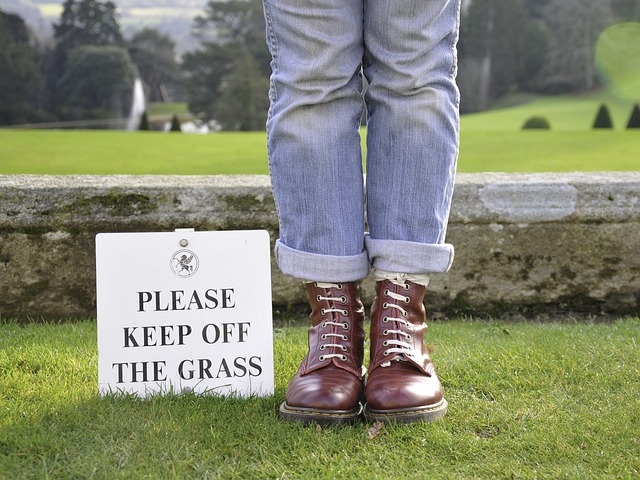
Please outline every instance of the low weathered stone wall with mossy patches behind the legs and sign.
[{"label": "low weathered stone wall with mossy patches behind the legs and sign", "polygon": [[[0,176],[0,316],[93,316],[97,233],[189,227],[273,242],[268,176]],[[640,311],[640,172],[459,174],[447,241],[433,316]],[[276,307],[306,303],[272,278]]]}]

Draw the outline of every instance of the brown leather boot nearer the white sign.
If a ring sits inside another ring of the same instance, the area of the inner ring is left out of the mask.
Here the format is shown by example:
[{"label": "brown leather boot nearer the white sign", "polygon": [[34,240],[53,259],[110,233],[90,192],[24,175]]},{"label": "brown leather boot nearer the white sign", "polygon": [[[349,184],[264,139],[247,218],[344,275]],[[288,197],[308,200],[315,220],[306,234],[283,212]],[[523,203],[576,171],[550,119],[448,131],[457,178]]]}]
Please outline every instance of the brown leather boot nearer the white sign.
[{"label": "brown leather boot nearer the white sign", "polygon": [[309,353],[293,377],[280,416],[319,424],[350,423],[362,413],[364,307],[358,284],[308,283]]}]

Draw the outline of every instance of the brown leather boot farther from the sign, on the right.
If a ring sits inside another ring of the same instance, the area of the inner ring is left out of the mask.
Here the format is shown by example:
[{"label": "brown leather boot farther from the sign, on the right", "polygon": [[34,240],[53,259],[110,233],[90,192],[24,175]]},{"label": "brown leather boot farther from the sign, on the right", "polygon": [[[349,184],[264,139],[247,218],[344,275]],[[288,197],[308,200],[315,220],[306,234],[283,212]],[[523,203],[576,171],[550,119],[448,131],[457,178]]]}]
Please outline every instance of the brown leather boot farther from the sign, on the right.
[{"label": "brown leather boot farther from the sign, on the right", "polygon": [[364,414],[370,421],[433,422],[447,411],[442,386],[424,345],[426,288],[376,282],[371,307],[371,360]]}]

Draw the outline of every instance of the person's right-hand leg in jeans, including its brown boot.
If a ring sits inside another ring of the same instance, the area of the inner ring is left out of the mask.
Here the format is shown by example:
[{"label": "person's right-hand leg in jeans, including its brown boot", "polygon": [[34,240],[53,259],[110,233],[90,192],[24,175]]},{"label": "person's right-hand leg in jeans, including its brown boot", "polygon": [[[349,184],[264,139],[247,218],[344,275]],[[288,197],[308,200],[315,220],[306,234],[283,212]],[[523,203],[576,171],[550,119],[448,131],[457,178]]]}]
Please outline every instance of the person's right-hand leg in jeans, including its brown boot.
[{"label": "person's right-hand leg in jeans, including its brown boot", "polygon": [[[378,275],[365,415],[433,421],[447,402],[424,345],[428,274],[444,243],[458,154],[458,0],[365,0],[365,244]],[[409,274],[409,275],[407,275]]]}]

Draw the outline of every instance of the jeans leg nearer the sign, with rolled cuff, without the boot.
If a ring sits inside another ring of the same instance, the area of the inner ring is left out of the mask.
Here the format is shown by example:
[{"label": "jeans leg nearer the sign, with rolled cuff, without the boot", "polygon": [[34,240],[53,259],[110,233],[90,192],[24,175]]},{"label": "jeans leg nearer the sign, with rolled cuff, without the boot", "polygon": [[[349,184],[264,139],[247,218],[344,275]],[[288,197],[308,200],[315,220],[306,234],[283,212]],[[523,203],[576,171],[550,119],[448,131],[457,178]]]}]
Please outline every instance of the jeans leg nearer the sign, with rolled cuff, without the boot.
[{"label": "jeans leg nearer the sign, with rolled cuff, without the boot", "polygon": [[367,276],[362,114],[362,0],[265,0],[272,54],[267,147],[283,273]]}]

